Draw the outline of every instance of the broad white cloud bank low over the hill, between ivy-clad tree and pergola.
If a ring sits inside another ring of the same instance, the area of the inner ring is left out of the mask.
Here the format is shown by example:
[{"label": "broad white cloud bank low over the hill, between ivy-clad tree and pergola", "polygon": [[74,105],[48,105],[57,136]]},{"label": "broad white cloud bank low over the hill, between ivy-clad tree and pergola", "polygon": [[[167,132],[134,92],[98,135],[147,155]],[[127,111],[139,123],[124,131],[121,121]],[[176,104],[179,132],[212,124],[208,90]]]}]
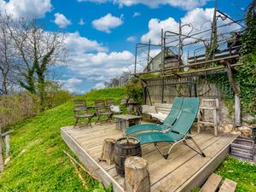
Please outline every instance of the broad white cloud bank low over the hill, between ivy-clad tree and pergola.
[{"label": "broad white cloud bank low over the hill, between ivy-clad tree and pergola", "polygon": [[[81,37],[79,32],[67,33],[66,44],[70,62],[65,67],[75,79],[61,83],[67,84],[66,89],[72,92],[80,93],[79,87],[86,82],[95,83],[96,89],[102,88],[102,84],[98,83],[108,81],[133,68],[134,55],[130,51],[108,52],[108,48],[94,40]],[[83,79],[83,83],[79,84],[78,79]]]}]

